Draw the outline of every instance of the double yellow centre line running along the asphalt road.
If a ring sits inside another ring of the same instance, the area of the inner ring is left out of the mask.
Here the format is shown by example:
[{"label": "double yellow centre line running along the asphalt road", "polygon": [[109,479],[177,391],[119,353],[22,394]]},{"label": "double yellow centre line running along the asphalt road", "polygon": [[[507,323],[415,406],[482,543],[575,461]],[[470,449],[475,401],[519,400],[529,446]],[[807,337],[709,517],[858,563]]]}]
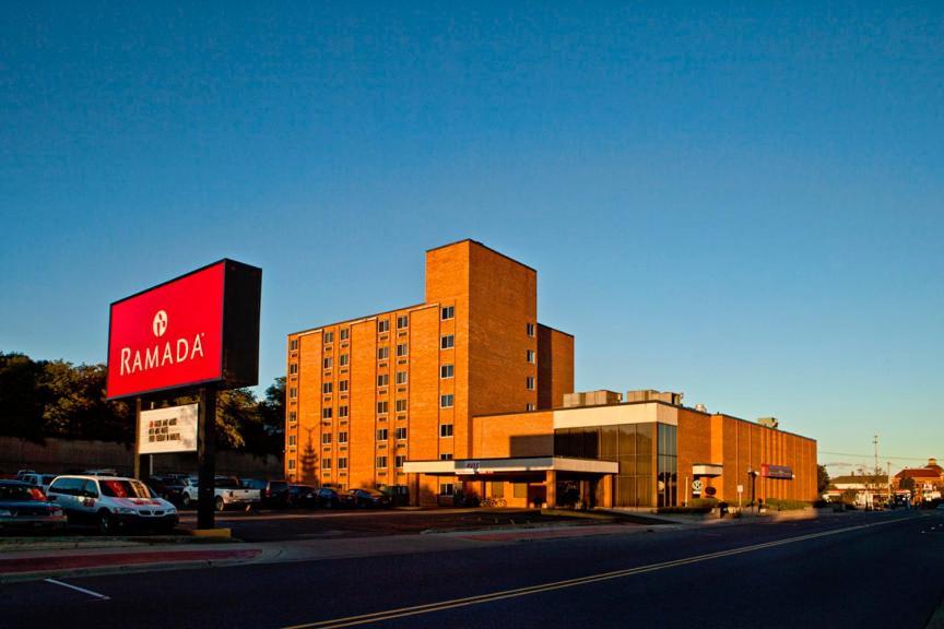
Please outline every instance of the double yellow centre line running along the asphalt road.
[{"label": "double yellow centre line running along the asphalt road", "polygon": [[397,609],[387,609],[385,612],[375,612],[373,614],[362,614],[359,616],[347,616],[343,618],[333,618],[330,620],[318,620],[316,622],[305,622],[302,625],[291,625],[287,627],[283,627],[283,629],[327,629],[327,628],[340,628],[340,627],[354,627],[357,625],[367,625],[370,622],[380,622],[384,620],[393,620],[397,618],[405,618],[409,616],[417,616],[420,614],[430,614],[433,612],[442,612],[446,609],[455,609],[457,607],[467,607],[469,605],[479,605],[481,603],[491,603],[493,601],[503,601],[506,598],[517,598],[520,596],[528,596],[530,594],[540,594],[543,592],[553,592],[555,590],[564,590],[567,588],[576,588],[578,585],[586,585],[589,583],[599,583],[601,581],[611,581],[613,579],[623,579],[625,577],[633,577],[636,574],[642,574],[646,572],[654,572],[657,570],[666,570],[669,568],[677,568],[678,566],[686,566],[689,563],[699,563],[701,561],[710,561],[712,559],[720,559],[722,557],[733,557],[735,555],[744,555],[747,553],[755,553],[757,550],[765,550],[767,548],[775,548],[777,546],[786,546],[788,544],[796,544],[799,542],[806,542],[810,539],[816,539],[819,537],[828,537],[830,535],[839,535],[840,533],[849,533],[851,531],[860,531],[863,529],[871,529],[873,526],[883,526],[885,524],[895,524],[898,522],[910,521],[910,518],[896,518],[895,520],[888,520],[885,522],[873,522],[871,524],[860,524],[857,526],[846,526],[843,529],[834,529],[831,531],[823,531],[819,533],[810,533],[806,535],[799,535],[796,537],[787,537],[784,539],[777,539],[774,542],[765,542],[763,544],[752,544],[751,546],[742,546],[740,548],[732,548],[730,550],[719,550],[716,553],[708,553],[705,555],[696,555],[693,557],[686,557],[683,559],[674,559],[672,561],[662,561],[659,563],[649,563],[647,566],[638,566],[636,568],[627,568],[624,570],[614,570],[611,572],[601,572],[599,574],[590,574],[588,577],[578,577],[576,579],[566,579],[563,581],[553,581],[548,583],[541,583],[539,585],[530,585],[527,588],[516,588],[511,590],[503,590],[498,592],[492,592],[488,594],[480,594],[477,596],[467,596],[464,598],[452,598],[449,601],[440,601],[438,603],[427,603],[424,605],[414,605],[412,607],[400,607]]}]

